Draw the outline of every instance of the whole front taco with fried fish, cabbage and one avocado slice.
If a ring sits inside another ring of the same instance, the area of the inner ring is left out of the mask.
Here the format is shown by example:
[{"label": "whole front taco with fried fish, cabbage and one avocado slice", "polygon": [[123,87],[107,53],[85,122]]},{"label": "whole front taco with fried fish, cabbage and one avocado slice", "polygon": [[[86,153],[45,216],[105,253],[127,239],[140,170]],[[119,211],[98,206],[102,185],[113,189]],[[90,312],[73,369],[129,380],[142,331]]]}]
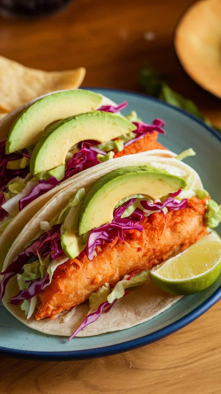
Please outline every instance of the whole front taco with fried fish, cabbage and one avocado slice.
[{"label": "whole front taco with fried fish, cabbage and one avocado slice", "polygon": [[71,339],[132,327],[178,301],[182,294],[157,288],[149,270],[221,220],[182,157],[131,154],[69,179],[9,250],[5,307],[33,329]]}]

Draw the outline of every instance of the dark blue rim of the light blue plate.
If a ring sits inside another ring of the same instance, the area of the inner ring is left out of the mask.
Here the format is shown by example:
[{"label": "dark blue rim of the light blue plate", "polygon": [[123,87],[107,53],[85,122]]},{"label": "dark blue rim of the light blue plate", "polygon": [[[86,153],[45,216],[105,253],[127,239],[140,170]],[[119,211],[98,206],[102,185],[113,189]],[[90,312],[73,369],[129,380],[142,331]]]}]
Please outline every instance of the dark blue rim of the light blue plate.
[{"label": "dark blue rim of the light blue plate", "polygon": [[[133,96],[143,97],[144,99],[160,102],[163,106],[172,108],[176,112],[182,113],[183,115],[189,117],[196,123],[202,125],[206,131],[209,131],[210,134],[213,134],[217,137],[217,139],[221,142],[221,134],[218,131],[213,129],[211,126],[204,123],[200,118],[192,115],[186,110],[181,108],[175,107],[167,102],[156,99],[155,97],[146,95],[145,93],[138,93],[130,90],[125,89],[115,89],[115,88],[108,88],[108,87],[82,87],[82,89],[96,89],[99,90],[100,93],[102,91],[110,91],[110,92],[119,92],[119,93],[126,93]],[[197,308],[183,316],[182,318],[176,320],[162,329],[154,331],[153,333],[141,336],[136,339],[132,339],[126,342],[120,342],[118,344],[103,346],[100,348],[93,348],[93,349],[84,349],[84,350],[70,350],[70,351],[30,351],[30,350],[20,350],[20,349],[12,349],[12,348],[4,348],[0,346],[0,354],[5,355],[8,357],[16,357],[22,359],[34,359],[34,360],[44,360],[44,361],[68,361],[68,360],[82,360],[82,359],[91,359],[97,357],[104,357],[109,355],[114,355],[118,353],[123,353],[125,351],[133,350],[140,348],[142,346],[151,344],[156,342],[166,336],[169,336],[176,331],[182,329],[189,323],[192,323],[194,320],[199,318],[202,314],[204,314],[208,309],[210,309],[217,301],[221,299],[221,286],[203,303],[201,303]]]}]

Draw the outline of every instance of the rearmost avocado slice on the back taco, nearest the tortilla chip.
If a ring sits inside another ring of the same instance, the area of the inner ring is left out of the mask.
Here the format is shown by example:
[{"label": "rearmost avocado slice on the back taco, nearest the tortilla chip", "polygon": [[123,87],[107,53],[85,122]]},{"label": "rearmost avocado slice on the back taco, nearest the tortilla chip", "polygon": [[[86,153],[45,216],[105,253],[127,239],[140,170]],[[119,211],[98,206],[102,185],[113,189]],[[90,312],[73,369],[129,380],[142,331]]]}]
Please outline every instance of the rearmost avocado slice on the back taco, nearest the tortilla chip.
[{"label": "rearmost avocado slice on the back taco, nearest the tortilla chip", "polygon": [[13,153],[37,142],[45,127],[58,119],[93,111],[102,97],[87,90],[66,90],[35,101],[14,121],[6,141],[6,153]]}]

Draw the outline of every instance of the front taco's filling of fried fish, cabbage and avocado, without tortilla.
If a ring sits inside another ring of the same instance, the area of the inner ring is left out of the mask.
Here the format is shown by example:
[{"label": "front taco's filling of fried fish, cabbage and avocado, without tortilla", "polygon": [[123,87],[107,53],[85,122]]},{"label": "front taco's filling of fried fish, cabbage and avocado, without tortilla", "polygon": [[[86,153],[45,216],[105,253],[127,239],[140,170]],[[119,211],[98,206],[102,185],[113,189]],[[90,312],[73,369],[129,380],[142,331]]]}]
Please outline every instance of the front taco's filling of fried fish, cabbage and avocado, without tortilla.
[{"label": "front taco's filling of fried fish, cabbage and avocado, without tortilla", "polygon": [[41,221],[40,233],[2,272],[1,297],[17,277],[19,292],[8,302],[28,319],[55,319],[89,299],[91,311],[71,338],[147,281],[148,269],[221,220],[208,193],[195,188],[191,167],[182,164],[189,171],[182,177],[177,159],[164,159],[170,171],[117,160],[118,169],[90,187],[85,182],[52,220]]}]

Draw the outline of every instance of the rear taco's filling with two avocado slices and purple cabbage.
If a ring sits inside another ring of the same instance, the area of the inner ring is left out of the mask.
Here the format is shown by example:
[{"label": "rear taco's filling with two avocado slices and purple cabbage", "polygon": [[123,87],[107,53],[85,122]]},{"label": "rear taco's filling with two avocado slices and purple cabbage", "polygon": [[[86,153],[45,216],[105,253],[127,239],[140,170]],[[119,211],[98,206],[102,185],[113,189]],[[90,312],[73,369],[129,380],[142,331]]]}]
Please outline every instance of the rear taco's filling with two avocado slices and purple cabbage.
[{"label": "rear taco's filling with two avocado slices and purple cabbage", "polygon": [[112,104],[76,89],[38,100],[15,120],[0,142],[0,233],[37,197],[81,171],[119,156],[165,149],[156,141],[158,133],[165,134],[160,119],[147,125],[134,111],[120,115],[127,102]]}]

